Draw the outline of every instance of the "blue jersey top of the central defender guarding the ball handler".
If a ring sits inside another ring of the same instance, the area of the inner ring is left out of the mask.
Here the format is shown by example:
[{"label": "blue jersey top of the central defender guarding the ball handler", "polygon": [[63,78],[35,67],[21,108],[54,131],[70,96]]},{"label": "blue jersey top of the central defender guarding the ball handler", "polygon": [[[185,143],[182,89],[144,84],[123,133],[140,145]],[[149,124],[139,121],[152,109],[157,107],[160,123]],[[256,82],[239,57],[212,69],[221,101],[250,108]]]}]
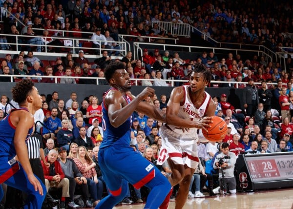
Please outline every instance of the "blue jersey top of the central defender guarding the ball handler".
[{"label": "blue jersey top of the central defender guarding the ball handler", "polygon": [[[107,93],[110,90],[116,90],[116,88],[110,88]],[[127,104],[131,102],[131,98],[126,95],[124,97]],[[124,122],[119,127],[115,128],[113,125],[111,125],[109,117],[108,117],[108,109],[105,106],[105,101],[102,103],[102,114],[103,114],[103,132],[104,132],[104,138],[102,141],[102,144],[100,148],[105,148],[112,145],[122,145],[122,146],[129,146],[130,145],[130,128],[131,128],[131,117],[129,117],[126,122]]]}]

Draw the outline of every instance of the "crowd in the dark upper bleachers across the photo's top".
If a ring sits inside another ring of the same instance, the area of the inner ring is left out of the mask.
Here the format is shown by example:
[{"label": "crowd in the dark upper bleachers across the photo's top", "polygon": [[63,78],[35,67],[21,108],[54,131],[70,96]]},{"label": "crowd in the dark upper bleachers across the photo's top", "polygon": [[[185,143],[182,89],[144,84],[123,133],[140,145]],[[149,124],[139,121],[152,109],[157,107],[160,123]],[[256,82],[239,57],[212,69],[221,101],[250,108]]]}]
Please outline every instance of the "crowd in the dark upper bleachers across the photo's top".
[{"label": "crowd in the dark upper bleachers across the photo's top", "polygon": [[[175,0],[28,0],[22,2],[16,0],[13,3],[0,1],[0,6],[4,7],[1,14],[4,25],[16,25],[11,28],[4,27],[3,33],[29,36],[35,34],[47,37],[43,40],[26,37],[23,40],[19,39],[19,43],[54,42],[53,45],[64,45],[58,40],[53,41],[54,38],[50,37],[61,36],[61,30],[64,30],[64,37],[91,38],[91,34],[79,32],[95,34],[97,28],[100,29],[102,37],[105,38],[105,32],[108,31],[115,41],[118,41],[118,34],[138,37],[130,38],[131,41],[144,41],[141,36],[172,38],[170,31],[161,30],[157,23],[153,23],[153,21],[167,21],[189,23],[201,32],[194,31],[196,35],[205,34],[218,42],[263,44],[272,51],[277,51],[279,46],[292,47],[292,40],[282,35],[282,33],[293,31],[290,15],[292,5],[286,0],[270,0],[269,2],[217,0],[203,3],[188,0],[179,2]],[[239,10],[239,8],[242,9]],[[25,26],[16,24],[16,19],[5,9],[22,21]],[[33,31],[27,31],[28,27],[32,27]],[[48,34],[44,34],[43,30],[34,29],[53,29],[54,31],[47,31]],[[95,45],[102,48],[112,47],[113,45],[107,43],[104,38],[105,42],[95,43]],[[0,40],[1,49],[9,47],[15,49],[15,45],[6,44],[7,41],[15,43],[14,37],[7,37],[6,40],[3,36]],[[101,37],[98,40],[102,40]],[[153,39],[151,42],[162,41]],[[41,51],[41,46],[36,50]],[[292,51],[292,49],[288,50]]]}]

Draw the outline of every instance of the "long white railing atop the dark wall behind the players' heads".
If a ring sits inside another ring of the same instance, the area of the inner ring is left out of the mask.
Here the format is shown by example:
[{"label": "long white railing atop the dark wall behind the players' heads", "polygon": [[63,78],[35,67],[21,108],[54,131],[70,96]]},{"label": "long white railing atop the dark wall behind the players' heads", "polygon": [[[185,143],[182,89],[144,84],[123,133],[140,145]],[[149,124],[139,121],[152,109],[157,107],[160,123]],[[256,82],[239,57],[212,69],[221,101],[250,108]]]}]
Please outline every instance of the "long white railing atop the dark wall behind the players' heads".
[{"label": "long white railing atop the dark wall behind the players' heads", "polygon": [[[41,79],[38,78],[53,78],[55,84],[58,83],[58,79],[61,78],[73,78],[73,79],[89,79],[89,80],[96,80],[97,85],[99,84],[99,80],[105,80],[105,78],[98,78],[98,77],[72,77],[72,76],[36,76],[36,75],[0,75],[1,77],[10,77],[10,82],[13,82],[13,79],[23,79],[23,78],[31,78],[34,82],[42,83]],[[134,81],[135,85],[140,85],[140,82],[144,81],[155,81],[154,79],[130,79],[130,81]],[[173,80],[173,79],[161,79],[160,81],[165,81],[169,86],[175,86],[175,83],[188,83],[188,80]],[[236,82],[236,81],[211,81],[210,84],[236,84],[235,88],[238,88],[239,84],[248,84],[248,82]],[[256,85],[261,85],[259,82],[254,82]],[[277,83],[268,83],[267,85],[276,85]],[[74,84],[73,84],[74,85]]]}]

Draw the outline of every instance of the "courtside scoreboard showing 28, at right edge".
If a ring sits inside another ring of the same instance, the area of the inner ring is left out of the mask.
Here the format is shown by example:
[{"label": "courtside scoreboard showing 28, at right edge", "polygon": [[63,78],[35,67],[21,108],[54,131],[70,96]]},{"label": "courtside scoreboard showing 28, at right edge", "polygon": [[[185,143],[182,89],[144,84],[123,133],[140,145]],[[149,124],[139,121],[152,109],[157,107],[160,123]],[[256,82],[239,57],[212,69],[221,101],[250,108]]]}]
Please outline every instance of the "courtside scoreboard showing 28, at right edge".
[{"label": "courtside scoreboard showing 28, at right edge", "polygon": [[242,190],[293,187],[293,152],[239,155],[235,168]]}]

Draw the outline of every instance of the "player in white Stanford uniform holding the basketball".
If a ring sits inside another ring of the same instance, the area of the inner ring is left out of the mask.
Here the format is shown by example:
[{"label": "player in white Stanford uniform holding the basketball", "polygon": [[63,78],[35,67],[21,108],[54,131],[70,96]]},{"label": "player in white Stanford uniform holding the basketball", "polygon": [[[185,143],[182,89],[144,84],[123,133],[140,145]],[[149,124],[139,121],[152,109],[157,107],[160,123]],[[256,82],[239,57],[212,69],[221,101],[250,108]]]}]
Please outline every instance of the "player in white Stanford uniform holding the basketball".
[{"label": "player in white Stanford uniform holding the basketball", "polygon": [[[167,104],[166,121],[159,134],[162,148],[158,164],[167,160],[172,174],[172,186],[180,184],[175,209],[182,209],[187,197],[191,177],[198,165],[197,129],[206,129],[215,114],[216,104],[205,87],[210,82],[210,71],[203,64],[195,64],[189,74],[189,85],[175,87]],[[160,209],[167,209],[162,205]]]}]

